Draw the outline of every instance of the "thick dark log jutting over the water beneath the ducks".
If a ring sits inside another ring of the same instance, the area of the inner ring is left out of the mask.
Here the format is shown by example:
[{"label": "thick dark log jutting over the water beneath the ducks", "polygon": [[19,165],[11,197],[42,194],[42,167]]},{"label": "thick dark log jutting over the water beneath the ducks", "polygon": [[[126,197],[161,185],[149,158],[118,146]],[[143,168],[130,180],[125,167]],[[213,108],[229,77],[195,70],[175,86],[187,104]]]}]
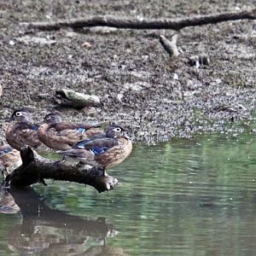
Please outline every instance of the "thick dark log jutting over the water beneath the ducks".
[{"label": "thick dark log jutting over the water beneath the ducks", "polygon": [[[102,177],[99,166],[84,166],[67,161],[54,162],[38,155],[30,147],[20,151],[22,166],[10,173],[4,183],[11,187],[29,186],[33,183],[44,183],[44,178],[84,183],[94,187],[99,193],[109,191],[118,183],[113,177]],[[45,183],[44,183],[45,184]]]}]

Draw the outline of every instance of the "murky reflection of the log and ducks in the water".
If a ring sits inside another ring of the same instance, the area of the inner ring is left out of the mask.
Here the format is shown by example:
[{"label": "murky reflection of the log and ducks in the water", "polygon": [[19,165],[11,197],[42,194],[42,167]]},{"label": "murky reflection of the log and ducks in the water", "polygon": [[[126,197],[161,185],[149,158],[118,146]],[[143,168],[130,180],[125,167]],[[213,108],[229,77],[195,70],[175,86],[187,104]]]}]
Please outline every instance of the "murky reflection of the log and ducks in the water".
[{"label": "murky reflection of the log and ducks in the water", "polygon": [[8,246],[16,253],[40,255],[126,255],[108,247],[117,231],[105,218],[84,219],[47,207],[33,189],[2,189],[0,212],[20,214],[21,224],[9,232]]}]

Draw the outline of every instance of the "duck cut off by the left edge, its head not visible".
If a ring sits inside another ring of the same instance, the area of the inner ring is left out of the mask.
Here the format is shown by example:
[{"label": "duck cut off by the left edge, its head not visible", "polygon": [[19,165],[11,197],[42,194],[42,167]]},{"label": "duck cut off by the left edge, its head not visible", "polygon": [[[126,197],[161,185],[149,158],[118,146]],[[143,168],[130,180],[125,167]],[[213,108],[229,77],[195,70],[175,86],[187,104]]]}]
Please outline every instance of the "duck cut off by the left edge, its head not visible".
[{"label": "duck cut off by the left edge, its head not visible", "polygon": [[12,148],[10,145],[5,144],[0,146],[0,169],[4,177],[4,171],[9,173],[9,170],[14,170],[22,164],[20,158],[20,151]]}]

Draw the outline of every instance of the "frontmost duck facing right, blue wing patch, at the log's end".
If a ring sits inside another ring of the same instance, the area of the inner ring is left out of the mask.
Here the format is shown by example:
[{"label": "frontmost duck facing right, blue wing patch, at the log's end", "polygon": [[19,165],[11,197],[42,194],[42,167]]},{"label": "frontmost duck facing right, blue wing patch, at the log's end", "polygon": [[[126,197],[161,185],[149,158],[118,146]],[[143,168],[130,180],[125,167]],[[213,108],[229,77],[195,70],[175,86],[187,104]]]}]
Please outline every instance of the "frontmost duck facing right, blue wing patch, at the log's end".
[{"label": "frontmost duck facing right, blue wing patch, at the log's end", "polygon": [[131,154],[131,138],[120,125],[109,125],[104,136],[92,137],[88,140],[76,143],[73,149],[61,152],[64,157],[77,158],[83,164],[90,164],[94,160],[97,165],[103,167],[103,176],[106,169],[116,166]]}]

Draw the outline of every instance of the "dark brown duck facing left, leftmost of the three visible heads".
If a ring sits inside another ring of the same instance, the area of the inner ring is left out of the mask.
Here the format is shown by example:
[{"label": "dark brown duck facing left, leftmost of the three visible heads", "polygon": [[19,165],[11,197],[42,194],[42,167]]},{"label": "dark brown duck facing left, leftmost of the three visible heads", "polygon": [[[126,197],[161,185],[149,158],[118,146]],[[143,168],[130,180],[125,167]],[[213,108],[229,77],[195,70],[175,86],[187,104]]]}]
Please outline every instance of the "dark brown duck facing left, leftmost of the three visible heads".
[{"label": "dark brown duck facing left, leftmost of the three visible heads", "polygon": [[20,150],[26,145],[34,149],[44,148],[44,144],[38,138],[38,125],[32,124],[32,118],[26,108],[15,110],[8,121],[15,120],[6,131],[6,141],[13,148]]}]

